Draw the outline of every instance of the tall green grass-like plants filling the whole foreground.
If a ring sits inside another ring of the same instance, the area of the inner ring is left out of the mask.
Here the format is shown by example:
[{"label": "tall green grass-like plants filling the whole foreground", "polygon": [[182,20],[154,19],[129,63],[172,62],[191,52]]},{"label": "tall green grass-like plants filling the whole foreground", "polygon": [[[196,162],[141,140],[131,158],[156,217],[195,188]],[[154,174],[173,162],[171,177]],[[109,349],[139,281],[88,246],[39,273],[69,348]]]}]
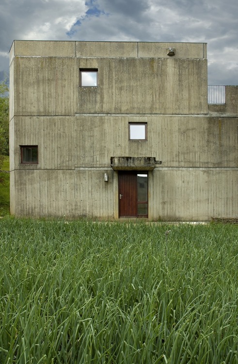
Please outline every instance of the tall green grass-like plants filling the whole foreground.
[{"label": "tall green grass-like plants filling the whole foreground", "polygon": [[238,363],[238,226],[7,217],[0,280],[1,364]]}]

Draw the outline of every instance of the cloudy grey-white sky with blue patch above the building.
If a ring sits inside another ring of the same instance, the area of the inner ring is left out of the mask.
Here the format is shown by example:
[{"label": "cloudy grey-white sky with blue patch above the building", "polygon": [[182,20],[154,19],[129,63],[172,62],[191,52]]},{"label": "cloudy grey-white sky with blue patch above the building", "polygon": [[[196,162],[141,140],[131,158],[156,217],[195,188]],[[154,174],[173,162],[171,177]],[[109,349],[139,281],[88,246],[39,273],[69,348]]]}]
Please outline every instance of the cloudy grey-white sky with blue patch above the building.
[{"label": "cloudy grey-white sky with blue patch above the building", "polygon": [[206,42],[208,83],[238,85],[237,0],[0,0],[0,74],[14,39]]}]

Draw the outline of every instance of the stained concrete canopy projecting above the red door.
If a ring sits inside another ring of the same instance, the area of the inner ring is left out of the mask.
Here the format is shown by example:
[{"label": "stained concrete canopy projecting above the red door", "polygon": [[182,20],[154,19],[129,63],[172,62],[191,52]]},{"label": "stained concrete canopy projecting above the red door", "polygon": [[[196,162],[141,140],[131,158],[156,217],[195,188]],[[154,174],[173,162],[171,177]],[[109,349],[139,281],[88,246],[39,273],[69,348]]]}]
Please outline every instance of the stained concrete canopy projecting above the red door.
[{"label": "stained concrete canopy projecting above the red door", "polygon": [[156,166],[155,157],[111,157],[114,170],[152,170]]}]

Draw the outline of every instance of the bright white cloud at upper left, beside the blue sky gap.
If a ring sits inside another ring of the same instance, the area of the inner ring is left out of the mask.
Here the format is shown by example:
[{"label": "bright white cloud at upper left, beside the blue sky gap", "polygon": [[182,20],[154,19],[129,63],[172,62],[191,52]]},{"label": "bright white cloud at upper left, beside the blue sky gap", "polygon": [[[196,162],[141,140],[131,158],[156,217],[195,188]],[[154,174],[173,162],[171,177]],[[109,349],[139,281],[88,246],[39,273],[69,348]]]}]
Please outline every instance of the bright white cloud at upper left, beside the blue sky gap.
[{"label": "bright white cloud at upper left, beside the blue sky gap", "polygon": [[[0,5],[0,50],[10,48],[14,39],[67,39],[78,19],[85,17],[84,0],[6,1]],[[9,22],[9,19],[11,21]]]}]

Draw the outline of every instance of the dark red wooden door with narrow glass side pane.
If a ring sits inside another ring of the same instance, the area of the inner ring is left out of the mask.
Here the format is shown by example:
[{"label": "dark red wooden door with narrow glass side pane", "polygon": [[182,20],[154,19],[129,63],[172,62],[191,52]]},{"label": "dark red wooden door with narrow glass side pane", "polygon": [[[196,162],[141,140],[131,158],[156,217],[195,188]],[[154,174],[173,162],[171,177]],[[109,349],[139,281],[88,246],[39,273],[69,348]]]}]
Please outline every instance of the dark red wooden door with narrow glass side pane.
[{"label": "dark red wooden door with narrow glass side pane", "polygon": [[118,186],[119,217],[148,217],[147,172],[119,171]]}]

